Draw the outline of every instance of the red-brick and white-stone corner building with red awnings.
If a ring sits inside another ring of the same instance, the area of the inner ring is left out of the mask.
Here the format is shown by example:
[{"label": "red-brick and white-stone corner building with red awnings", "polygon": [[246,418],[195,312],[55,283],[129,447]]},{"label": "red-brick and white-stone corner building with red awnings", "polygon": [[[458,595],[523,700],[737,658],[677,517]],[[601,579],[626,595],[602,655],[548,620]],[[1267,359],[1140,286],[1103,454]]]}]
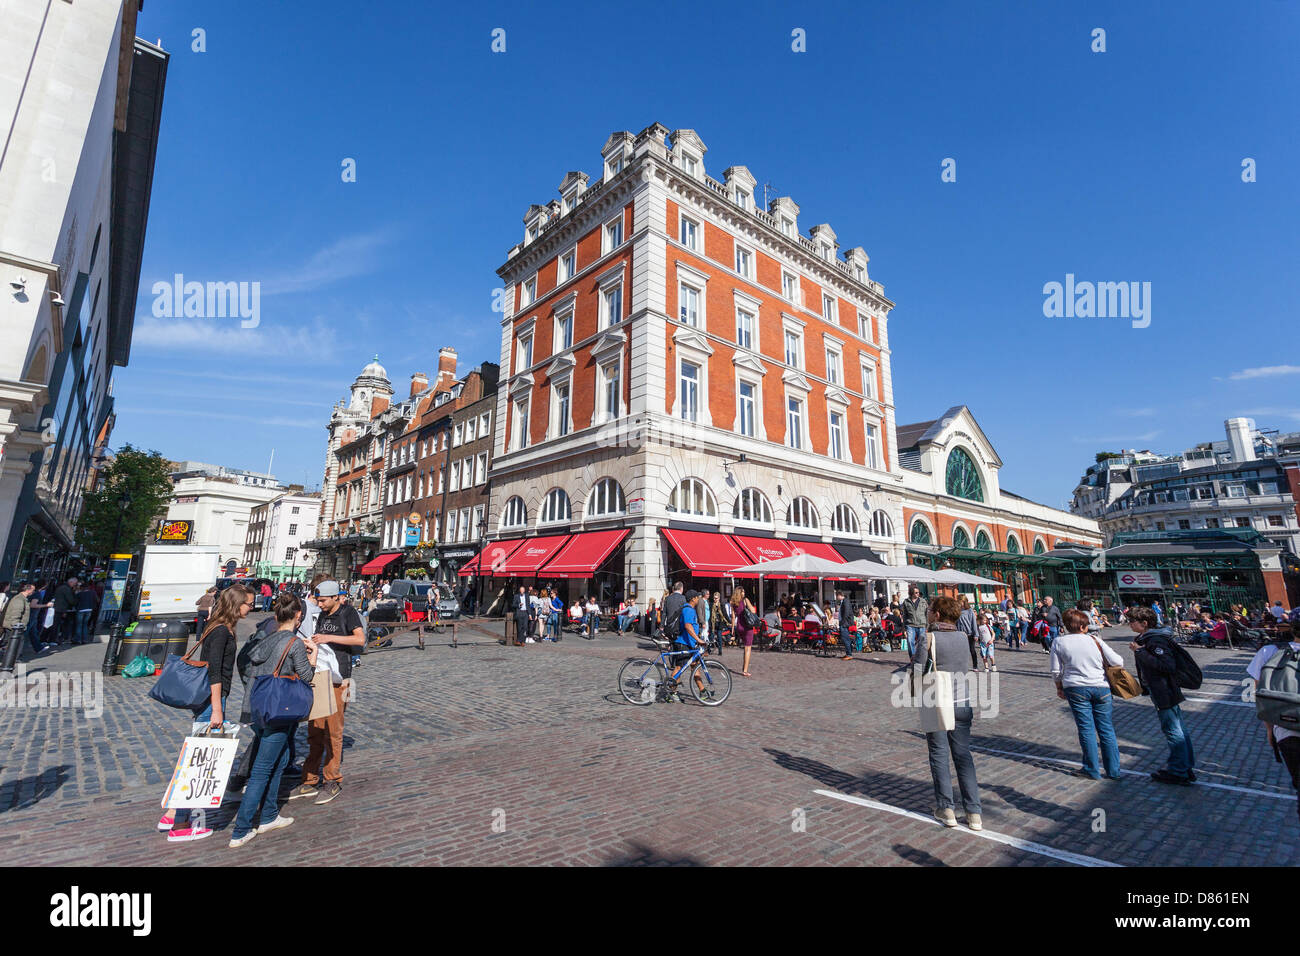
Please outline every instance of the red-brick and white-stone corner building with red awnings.
[{"label": "red-brick and white-stone corner building with red awnings", "polygon": [[803,235],[793,199],[762,208],[706,153],[693,130],[615,133],[598,181],[571,172],[529,207],[498,269],[484,574],[612,600],[725,589],[792,549],[907,562],[893,302],[864,250]]}]

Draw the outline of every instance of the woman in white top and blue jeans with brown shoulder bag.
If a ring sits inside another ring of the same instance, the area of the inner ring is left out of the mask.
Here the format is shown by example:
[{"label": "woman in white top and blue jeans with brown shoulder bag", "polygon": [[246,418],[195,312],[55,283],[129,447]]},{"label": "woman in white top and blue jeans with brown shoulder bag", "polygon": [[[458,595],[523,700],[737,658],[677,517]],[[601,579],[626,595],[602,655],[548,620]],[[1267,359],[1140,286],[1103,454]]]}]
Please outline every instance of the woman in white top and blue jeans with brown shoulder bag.
[{"label": "woman in white top and blue jeans with brown shoulder bag", "polygon": [[1124,659],[1088,635],[1088,614],[1071,609],[1061,615],[1065,633],[1052,641],[1052,676],[1057,697],[1070,704],[1083,749],[1083,775],[1100,780],[1097,743],[1106,778],[1119,779],[1119,744],[1110,721],[1113,705],[1104,665],[1122,667]]}]

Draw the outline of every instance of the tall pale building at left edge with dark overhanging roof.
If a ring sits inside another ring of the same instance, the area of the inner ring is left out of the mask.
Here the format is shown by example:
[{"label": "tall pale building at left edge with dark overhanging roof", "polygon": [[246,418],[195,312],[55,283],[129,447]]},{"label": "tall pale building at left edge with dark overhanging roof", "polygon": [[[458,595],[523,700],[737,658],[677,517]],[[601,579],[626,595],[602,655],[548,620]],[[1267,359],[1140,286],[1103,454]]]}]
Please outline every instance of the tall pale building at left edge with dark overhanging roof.
[{"label": "tall pale building at left edge with dark overhanging roof", "polygon": [[0,27],[0,579],[73,546],[130,356],[168,55],[139,0],[9,0]]}]

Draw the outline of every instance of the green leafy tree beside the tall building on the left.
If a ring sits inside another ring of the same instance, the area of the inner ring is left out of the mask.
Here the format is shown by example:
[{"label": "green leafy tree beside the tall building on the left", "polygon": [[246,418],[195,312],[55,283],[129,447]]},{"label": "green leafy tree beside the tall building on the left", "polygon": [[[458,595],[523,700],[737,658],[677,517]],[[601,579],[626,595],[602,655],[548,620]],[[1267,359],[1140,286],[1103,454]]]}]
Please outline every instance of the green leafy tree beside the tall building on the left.
[{"label": "green leafy tree beside the tall building on the left", "polygon": [[[125,511],[121,503],[124,492],[131,502]],[[170,499],[168,460],[157,451],[124,445],[104,468],[99,485],[84,498],[81,519],[77,522],[77,542],[90,554],[110,554],[121,518],[117,551],[135,551],[144,544],[155,522],[166,514]]]}]

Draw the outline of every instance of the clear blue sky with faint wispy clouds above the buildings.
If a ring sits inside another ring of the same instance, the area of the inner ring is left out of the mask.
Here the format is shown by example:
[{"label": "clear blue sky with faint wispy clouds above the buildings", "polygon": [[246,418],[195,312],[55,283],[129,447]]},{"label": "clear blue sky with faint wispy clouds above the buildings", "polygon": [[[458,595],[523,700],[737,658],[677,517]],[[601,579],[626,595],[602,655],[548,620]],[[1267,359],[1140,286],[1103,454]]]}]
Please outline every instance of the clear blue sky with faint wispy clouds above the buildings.
[{"label": "clear blue sky with faint wispy clouds above the buildings", "polygon": [[[898,421],[968,405],[1010,490],[1060,506],[1095,451],[1236,415],[1300,429],[1295,0],[304,9],[146,4],[172,61],[114,447],[257,470],[274,449],[318,484],[361,365],[406,394],[439,346],[497,360],[528,204],[654,121],[867,250]],[[155,317],[174,273],[260,282],[260,326]],[[1150,282],[1150,325],[1045,317],[1067,273]]]}]

